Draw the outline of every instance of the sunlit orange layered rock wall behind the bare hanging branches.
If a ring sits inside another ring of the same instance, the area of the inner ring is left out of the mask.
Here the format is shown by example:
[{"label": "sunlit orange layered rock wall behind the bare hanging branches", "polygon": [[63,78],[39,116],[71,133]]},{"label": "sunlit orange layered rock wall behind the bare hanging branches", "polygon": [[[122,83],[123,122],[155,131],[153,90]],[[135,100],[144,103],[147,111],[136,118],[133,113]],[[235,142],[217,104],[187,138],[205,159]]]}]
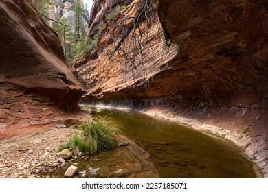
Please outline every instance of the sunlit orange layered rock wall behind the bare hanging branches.
[{"label": "sunlit orange layered rock wall behind the bare hanging branches", "polygon": [[[150,5],[143,2],[100,1],[93,5],[88,37],[98,34],[98,43],[74,65],[87,80],[85,99],[148,98],[144,92],[146,82],[169,69],[168,62],[178,50],[175,45],[166,46],[157,10],[150,10]],[[126,8],[107,21],[107,14],[123,5]],[[143,9],[146,11],[139,16]],[[133,29],[131,18],[138,16],[138,27]],[[126,29],[131,30],[122,43]]]}]

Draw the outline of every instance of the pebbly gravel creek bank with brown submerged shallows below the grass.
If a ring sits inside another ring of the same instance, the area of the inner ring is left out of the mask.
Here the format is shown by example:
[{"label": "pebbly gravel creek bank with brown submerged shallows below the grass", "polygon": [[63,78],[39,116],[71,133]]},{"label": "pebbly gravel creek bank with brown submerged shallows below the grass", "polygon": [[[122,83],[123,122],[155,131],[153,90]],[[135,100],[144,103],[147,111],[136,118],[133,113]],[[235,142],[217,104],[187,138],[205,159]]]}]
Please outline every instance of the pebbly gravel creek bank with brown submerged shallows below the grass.
[{"label": "pebbly gravel creek bank with brown submerged shallows below the grass", "polygon": [[[0,178],[65,178],[64,173],[71,165],[79,170],[79,174],[73,178],[160,177],[149,154],[126,136],[119,136],[119,139],[128,143],[127,146],[100,153],[104,160],[100,162],[99,174],[91,175],[89,171],[94,156],[77,152],[71,160],[63,160],[57,154],[58,147],[78,131],[73,128],[54,128],[21,141],[0,143]],[[106,154],[109,156],[105,157]]]}]

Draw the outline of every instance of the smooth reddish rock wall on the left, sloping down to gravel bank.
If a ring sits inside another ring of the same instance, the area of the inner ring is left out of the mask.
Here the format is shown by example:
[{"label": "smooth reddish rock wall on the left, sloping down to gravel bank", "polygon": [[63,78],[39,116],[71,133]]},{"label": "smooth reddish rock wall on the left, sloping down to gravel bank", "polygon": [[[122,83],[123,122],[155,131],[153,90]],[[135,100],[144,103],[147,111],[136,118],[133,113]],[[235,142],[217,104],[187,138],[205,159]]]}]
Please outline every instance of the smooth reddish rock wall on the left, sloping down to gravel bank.
[{"label": "smooth reddish rock wall on the left, sloping down to gravel bank", "polygon": [[32,2],[3,0],[0,17],[0,139],[77,119],[79,75]]}]

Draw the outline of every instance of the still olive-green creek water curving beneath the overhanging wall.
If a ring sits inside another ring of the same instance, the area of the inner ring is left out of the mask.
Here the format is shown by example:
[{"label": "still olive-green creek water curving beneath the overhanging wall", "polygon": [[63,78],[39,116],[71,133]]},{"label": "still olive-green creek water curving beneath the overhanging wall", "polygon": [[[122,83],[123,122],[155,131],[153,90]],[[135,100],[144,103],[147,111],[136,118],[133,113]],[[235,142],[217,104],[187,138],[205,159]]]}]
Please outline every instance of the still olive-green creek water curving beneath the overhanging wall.
[{"label": "still olive-green creek water curving beneath the overhanging wall", "polygon": [[138,112],[102,110],[98,115],[122,123],[126,136],[150,154],[162,178],[257,177],[252,163],[223,139]]}]

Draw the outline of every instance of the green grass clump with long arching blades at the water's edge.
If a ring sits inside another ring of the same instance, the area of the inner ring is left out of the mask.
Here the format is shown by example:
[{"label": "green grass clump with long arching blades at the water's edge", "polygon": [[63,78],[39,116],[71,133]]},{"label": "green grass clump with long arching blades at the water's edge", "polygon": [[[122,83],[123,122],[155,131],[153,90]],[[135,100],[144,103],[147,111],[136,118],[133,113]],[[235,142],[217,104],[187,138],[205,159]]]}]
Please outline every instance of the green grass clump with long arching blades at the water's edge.
[{"label": "green grass clump with long arching blades at the water's edge", "polygon": [[80,152],[97,154],[112,150],[118,147],[116,135],[123,133],[122,126],[108,117],[88,119],[78,128],[81,132],[76,133],[71,140],[61,145],[59,152],[63,149],[78,149]]}]

